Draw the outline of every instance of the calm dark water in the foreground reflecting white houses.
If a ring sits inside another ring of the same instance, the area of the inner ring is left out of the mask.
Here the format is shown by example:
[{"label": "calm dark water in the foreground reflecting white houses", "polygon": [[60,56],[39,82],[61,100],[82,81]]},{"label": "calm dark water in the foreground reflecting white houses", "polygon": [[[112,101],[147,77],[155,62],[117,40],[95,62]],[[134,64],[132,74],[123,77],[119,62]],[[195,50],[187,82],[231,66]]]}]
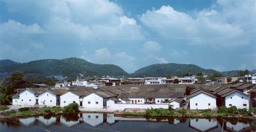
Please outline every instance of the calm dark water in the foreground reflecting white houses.
[{"label": "calm dark water in the foreground reflecting white houses", "polygon": [[256,121],[241,119],[148,119],[83,113],[68,117],[38,116],[0,119],[0,131],[255,131],[255,124]]}]

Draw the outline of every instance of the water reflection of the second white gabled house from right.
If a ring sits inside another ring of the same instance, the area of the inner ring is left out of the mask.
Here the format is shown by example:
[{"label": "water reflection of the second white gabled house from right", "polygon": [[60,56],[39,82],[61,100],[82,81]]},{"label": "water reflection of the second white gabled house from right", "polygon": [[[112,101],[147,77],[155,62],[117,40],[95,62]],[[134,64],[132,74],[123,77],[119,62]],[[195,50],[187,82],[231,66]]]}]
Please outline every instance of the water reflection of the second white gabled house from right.
[{"label": "water reflection of the second white gabled house from right", "polygon": [[189,127],[197,131],[210,131],[218,128],[215,119],[190,119]]}]

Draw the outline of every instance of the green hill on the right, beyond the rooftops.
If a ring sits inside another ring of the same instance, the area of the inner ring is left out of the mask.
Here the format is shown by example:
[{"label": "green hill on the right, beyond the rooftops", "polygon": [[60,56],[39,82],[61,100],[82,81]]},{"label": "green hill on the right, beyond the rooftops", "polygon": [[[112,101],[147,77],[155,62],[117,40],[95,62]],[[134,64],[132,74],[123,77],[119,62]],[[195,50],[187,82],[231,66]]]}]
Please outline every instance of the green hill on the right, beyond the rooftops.
[{"label": "green hill on the right, beyond the rooftops", "polygon": [[195,64],[152,64],[135,71],[132,75],[134,77],[166,77],[168,75],[183,75],[185,73],[205,73],[206,75],[212,75],[219,73],[215,70],[205,70]]}]

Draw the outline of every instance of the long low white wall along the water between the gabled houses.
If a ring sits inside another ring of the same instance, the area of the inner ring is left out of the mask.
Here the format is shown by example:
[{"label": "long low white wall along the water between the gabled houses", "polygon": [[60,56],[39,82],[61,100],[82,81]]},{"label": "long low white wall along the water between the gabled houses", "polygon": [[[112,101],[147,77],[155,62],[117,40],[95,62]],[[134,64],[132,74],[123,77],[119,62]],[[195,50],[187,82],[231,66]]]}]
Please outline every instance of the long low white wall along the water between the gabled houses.
[{"label": "long low white wall along the water between the gabled houses", "polygon": [[108,110],[124,110],[125,108],[169,108],[169,104],[125,104],[125,103],[115,103],[113,100],[107,101]]}]

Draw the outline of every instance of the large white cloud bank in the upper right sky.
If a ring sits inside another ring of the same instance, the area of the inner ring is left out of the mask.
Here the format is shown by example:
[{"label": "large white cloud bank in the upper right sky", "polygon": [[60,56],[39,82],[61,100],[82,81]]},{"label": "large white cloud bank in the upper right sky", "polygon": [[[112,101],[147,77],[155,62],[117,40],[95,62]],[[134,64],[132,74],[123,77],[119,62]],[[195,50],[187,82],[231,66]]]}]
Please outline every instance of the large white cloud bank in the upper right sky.
[{"label": "large white cloud bank in the upper right sky", "polygon": [[170,40],[219,46],[250,44],[253,41],[252,33],[256,33],[256,28],[252,29],[256,22],[256,2],[228,1],[226,4],[218,1],[216,5],[195,15],[162,6],[159,10],[148,10],[140,16],[140,20]]}]

